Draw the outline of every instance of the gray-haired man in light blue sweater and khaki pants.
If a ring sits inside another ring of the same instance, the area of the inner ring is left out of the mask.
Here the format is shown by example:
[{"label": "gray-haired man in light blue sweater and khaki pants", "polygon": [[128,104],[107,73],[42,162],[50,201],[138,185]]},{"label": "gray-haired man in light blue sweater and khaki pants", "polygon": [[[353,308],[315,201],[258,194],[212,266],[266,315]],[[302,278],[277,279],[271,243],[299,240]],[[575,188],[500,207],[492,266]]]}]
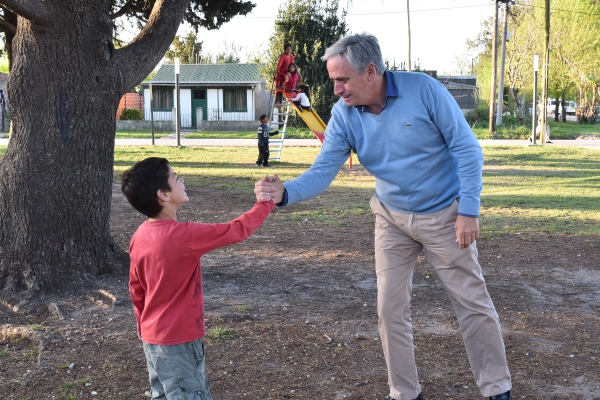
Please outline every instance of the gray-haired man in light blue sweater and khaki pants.
[{"label": "gray-haired man in light blue sweater and khaki pants", "polygon": [[376,178],[371,208],[388,399],[423,399],[410,302],[424,250],[451,298],[481,394],[510,400],[500,321],[477,262],[481,146],[441,83],[422,73],[385,71],[374,36],[342,38],[323,60],[341,99],[311,168],[283,185],[275,182],[278,205],[323,192],[356,152]]}]

